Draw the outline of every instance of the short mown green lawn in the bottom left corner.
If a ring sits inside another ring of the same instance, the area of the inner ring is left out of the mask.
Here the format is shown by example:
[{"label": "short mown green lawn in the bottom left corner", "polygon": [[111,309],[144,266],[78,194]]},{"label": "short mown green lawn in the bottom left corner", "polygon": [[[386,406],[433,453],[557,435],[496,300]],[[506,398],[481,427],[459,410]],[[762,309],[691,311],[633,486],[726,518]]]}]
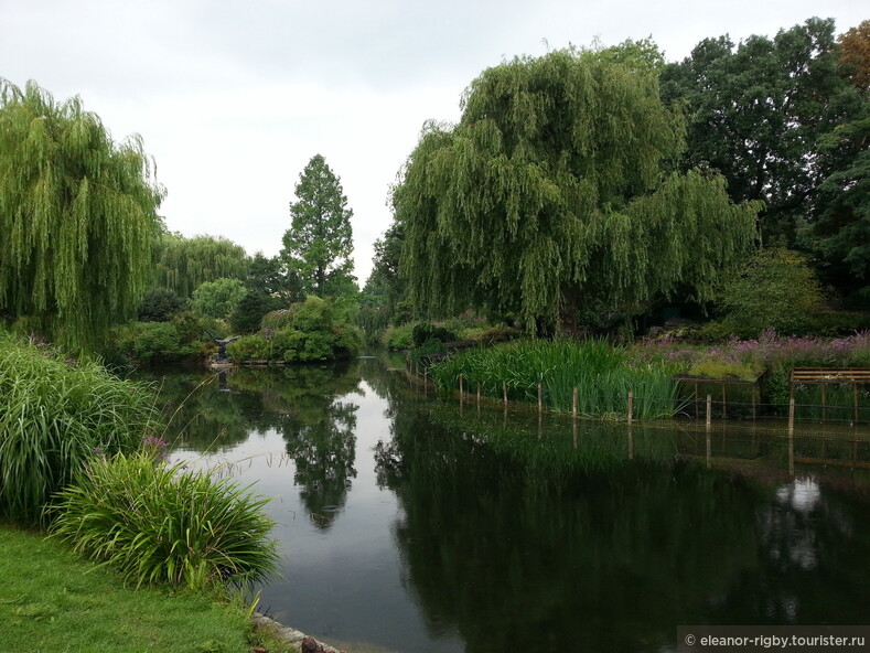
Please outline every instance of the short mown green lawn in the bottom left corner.
[{"label": "short mown green lawn in the bottom left corner", "polygon": [[237,606],[125,588],[94,567],[43,534],[0,524],[0,653],[246,653],[261,643]]}]

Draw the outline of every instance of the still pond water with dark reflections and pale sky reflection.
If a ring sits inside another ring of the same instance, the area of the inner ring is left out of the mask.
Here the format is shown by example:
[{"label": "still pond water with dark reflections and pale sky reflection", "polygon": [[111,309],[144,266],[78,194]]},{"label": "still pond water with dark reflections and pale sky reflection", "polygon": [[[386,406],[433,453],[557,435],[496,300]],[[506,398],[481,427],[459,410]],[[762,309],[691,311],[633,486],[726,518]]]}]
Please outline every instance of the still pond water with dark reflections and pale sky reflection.
[{"label": "still pond water with dark reflections and pale sky reflection", "polygon": [[174,456],[276,497],[283,578],[261,608],[279,621],[355,653],[673,651],[678,624],[870,623],[866,433],[504,413],[387,364],[163,378],[187,397]]}]

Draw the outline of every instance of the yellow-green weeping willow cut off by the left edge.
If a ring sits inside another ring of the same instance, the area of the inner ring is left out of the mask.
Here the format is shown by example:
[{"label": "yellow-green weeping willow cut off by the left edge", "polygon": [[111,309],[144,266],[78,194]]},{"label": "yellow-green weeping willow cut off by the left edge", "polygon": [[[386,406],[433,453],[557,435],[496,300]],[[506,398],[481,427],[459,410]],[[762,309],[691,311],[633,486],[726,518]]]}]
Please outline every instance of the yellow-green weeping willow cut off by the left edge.
[{"label": "yellow-green weeping willow cut off by the left edge", "polygon": [[151,279],[162,188],[138,136],[0,78],[0,315],[94,350]]}]

